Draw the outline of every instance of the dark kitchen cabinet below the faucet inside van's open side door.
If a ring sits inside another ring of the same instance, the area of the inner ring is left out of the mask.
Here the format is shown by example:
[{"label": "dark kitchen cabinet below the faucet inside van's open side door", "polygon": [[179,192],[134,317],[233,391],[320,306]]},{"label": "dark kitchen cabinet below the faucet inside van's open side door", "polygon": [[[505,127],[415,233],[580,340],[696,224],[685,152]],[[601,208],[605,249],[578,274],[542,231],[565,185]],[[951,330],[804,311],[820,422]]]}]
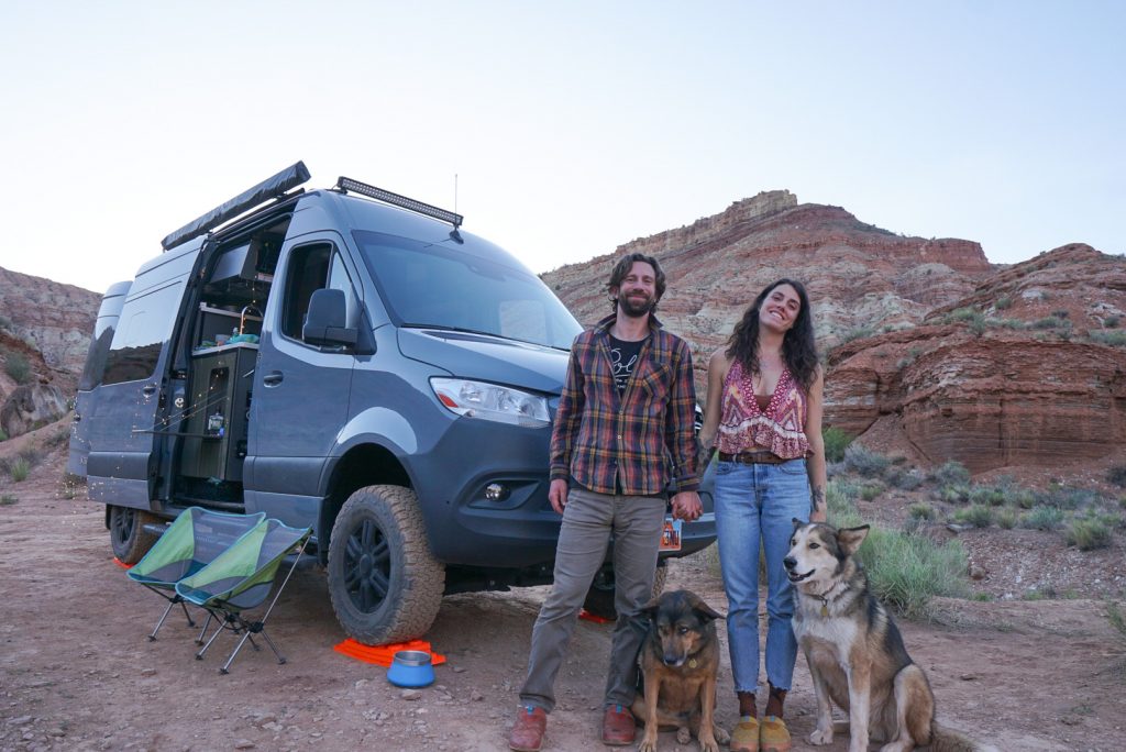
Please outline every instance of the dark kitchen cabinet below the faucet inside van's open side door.
[{"label": "dark kitchen cabinet below the faucet inside van's open side door", "polygon": [[258,346],[238,342],[197,350],[180,471],[190,477],[242,481],[247,415]]}]

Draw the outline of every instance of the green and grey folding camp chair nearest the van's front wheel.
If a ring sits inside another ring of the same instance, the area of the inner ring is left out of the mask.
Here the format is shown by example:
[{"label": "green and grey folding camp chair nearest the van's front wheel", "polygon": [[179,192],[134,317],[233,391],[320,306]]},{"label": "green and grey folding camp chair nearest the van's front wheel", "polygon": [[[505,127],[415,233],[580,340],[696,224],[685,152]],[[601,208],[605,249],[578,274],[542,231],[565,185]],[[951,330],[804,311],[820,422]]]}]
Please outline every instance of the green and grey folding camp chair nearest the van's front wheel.
[{"label": "green and grey folding camp chair nearest the van's front wheel", "polygon": [[[254,643],[253,634],[262,638],[274,651],[278,663],[285,663],[285,657],[278,652],[274,641],[266,634],[266,619],[269,618],[274,605],[278,602],[297,562],[305,550],[312,528],[292,528],[278,520],[266,520],[261,526],[239,538],[230,548],[220,554],[214,562],[191,576],[176,584],[176,592],[185,600],[207,609],[211,616],[218,619],[218,628],[207,644],[196,653],[196,660],[203,660],[204,653],[215,642],[220,633],[230,629],[235,635],[242,633],[242,639],[235,646],[226,664],[220,673],[226,673],[234,662],[234,656],[249,639],[253,648],[260,650]],[[277,589],[274,600],[258,620],[243,618],[242,612],[261,605],[270,594],[278,569],[286,555],[296,548],[297,555],[289,567],[285,580]]]}]

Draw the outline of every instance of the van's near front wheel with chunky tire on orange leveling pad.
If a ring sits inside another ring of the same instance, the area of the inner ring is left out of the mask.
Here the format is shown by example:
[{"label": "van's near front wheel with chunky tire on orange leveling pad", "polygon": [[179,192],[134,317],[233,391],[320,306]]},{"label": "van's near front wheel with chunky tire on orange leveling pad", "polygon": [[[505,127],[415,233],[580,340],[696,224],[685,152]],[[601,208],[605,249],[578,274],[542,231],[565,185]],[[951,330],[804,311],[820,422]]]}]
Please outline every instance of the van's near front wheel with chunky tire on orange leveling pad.
[{"label": "van's near front wheel with chunky tire on orange leveling pad", "polygon": [[446,587],[446,567],[427,543],[418,498],[397,485],[357,490],[329,541],[329,598],[340,626],[368,645],[427,633]]}]

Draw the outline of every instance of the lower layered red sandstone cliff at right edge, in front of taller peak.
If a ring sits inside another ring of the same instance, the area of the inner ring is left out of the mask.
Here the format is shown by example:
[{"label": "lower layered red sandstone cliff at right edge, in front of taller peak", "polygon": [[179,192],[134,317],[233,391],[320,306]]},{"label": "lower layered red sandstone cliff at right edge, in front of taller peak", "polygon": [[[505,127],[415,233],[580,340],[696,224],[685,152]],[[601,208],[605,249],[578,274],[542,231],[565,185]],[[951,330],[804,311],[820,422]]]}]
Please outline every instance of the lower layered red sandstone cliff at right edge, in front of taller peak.
[{"label": "lower layered red sandstone cliff at right edge, in front of taller peak", "polygon": [[826,420],[974,472],[1124,456],[1126,260],[1067,245],[829,359]]}]

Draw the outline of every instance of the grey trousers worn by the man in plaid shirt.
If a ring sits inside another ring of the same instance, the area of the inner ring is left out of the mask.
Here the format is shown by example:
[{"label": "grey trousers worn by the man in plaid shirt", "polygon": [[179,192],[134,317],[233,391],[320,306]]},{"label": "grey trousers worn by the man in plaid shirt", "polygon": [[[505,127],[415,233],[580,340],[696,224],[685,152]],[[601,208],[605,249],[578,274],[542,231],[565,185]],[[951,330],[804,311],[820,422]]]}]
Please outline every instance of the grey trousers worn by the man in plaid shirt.
[{"label": "grey trousers worn by the man in plaid shirt", "polygon": [[664,499],[619,496],[571,489],[563,510],[555,550],[555,584],[539,609],[531,630],[528,678],[520,702],[551,713],[552,689],[563,663],[587,591],[606,558],[614,534],[614,608],[618,612],[610,647],[606,704],[628,708],[637,680],[637,653],[649,629],[638,614],[653,597],[653,575],[664,520]]}]

